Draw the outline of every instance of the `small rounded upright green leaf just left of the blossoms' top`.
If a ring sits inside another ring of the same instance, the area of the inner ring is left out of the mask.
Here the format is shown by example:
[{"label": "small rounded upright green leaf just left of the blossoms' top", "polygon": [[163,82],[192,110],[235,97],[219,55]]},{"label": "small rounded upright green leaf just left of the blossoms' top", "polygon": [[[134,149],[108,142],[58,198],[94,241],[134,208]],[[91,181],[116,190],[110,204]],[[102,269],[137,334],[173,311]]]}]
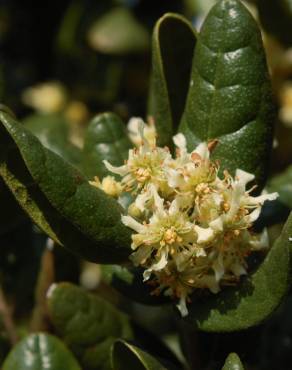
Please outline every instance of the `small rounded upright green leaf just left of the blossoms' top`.
[{"label": "small rounded upright green leaf just left of the blossoms' top", "polygon": [[113,166],[121,166],[132,146],[126,127],[118,116],[113,113],[98,115],[89,124],[85,135],[82,161],[84,173],[89,178],[108,175],[102,161],[106,159]]}]

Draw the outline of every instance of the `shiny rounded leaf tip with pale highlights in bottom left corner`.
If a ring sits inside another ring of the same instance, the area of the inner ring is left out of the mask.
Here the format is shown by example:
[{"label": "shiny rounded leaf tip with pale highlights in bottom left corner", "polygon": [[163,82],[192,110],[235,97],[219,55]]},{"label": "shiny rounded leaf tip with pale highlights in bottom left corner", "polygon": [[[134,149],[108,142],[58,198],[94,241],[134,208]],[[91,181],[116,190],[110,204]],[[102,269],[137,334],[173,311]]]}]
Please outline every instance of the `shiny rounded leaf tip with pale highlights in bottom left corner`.
[{"label": "shiny rounded leaf tip with pale highlights in bottom left corner", "polygon": [[56,337],[38,333],[19,342],[9,353],[3,370],[81,370],[77,361]]}]

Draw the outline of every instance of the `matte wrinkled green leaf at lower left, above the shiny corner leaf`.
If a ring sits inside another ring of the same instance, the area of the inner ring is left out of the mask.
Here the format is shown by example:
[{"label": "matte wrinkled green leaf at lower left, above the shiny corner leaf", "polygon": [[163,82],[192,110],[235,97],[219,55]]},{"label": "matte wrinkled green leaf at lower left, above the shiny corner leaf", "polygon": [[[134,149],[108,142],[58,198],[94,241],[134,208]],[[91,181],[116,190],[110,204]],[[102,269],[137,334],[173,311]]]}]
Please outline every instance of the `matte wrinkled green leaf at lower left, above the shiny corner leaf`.
[{"label": "matte wrinkled green leaf at lower left, above the shiny corner leaf", "polygon": [[110,347],[116,338],[132,339],[128,317],[101,297],[69,283],[48,293],[53,325],[88,370],[110,369]]}]

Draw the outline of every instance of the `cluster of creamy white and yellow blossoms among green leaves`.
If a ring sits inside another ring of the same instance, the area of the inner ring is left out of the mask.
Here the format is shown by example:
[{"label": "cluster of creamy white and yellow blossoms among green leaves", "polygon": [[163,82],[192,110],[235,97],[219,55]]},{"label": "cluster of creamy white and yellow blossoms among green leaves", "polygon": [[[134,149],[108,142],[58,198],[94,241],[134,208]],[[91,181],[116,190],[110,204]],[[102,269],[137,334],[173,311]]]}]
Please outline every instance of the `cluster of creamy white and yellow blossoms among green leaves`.
[{"label": "cluster of creamy white and yellow blossoms among green leaves", "polygon": [[254,175],[237,170],[218,176],[219,164],[210,160],[216,142],[201,143],[188,152],[182,134],[174,137],[173,157],[168,148],[156,146],[155,128],[142,120],[129,123],[130,138],[136,145],[125,164],[105,166],[121,181],[108,176],[93,185],[117,198],[133,196],[122,222],[131,228],[131,260],[142,266],[144,281],[154,293],[178,299],[187,315],[186,303],[197,289],[217,293],[247,273],[246,258],[252,251],[268,247],[267,234],[255,235],[253,222],[266,200],[277,193],[257,197],[246,185]]}]

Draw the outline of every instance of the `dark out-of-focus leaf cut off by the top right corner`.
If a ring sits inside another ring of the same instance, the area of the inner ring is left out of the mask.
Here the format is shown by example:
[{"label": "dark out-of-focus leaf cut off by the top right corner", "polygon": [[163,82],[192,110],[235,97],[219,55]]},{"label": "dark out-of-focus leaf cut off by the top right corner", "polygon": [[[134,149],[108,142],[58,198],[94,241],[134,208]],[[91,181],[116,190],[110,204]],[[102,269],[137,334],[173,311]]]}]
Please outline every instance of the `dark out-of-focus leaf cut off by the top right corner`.
[{"label": "dark out-of-focus leaf cut off by the top right corner", "polygon": [[292,45],[292,1],[256,0],[265,31],[287,46]]}]

